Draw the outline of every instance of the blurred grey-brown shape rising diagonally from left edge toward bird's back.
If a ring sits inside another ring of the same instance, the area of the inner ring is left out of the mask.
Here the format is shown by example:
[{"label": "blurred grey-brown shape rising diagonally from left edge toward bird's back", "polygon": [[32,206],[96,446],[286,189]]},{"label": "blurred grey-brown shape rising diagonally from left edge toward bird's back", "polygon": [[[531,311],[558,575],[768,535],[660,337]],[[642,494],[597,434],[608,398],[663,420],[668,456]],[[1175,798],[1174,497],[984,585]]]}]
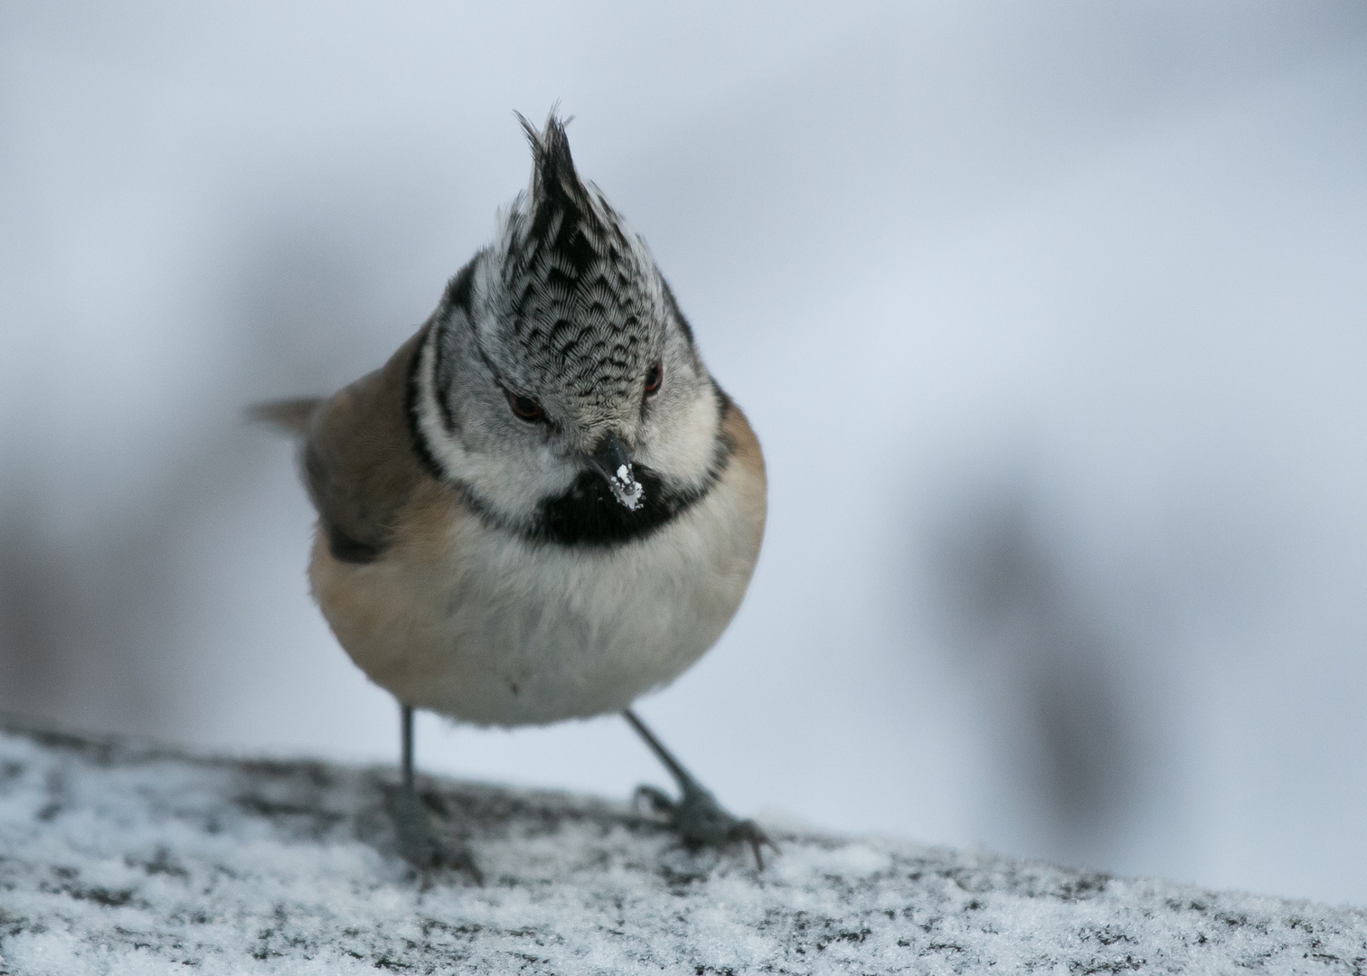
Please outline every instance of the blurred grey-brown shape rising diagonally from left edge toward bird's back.
[{"label": "blurred grey-brown shape rising diagonally from left edge toward bird's back", "polygon": [[[0,709],[168,738],[195,724],[202,692],[186,618],[213,599],[194,586],[230,554],[186,548],[228,518],[271,459],[272,433],[250,426],[245,407],[365,372],[361,336],[375,331],[338,235],[284,234],[247,247],[230,302],[238,340],[197,390],[195,422],[157,459],[150,492],[115,495],[75,534],[53,526],[57,513],[34,488],[0,492]],[[201,565],[186,573],[186,558]]]}]

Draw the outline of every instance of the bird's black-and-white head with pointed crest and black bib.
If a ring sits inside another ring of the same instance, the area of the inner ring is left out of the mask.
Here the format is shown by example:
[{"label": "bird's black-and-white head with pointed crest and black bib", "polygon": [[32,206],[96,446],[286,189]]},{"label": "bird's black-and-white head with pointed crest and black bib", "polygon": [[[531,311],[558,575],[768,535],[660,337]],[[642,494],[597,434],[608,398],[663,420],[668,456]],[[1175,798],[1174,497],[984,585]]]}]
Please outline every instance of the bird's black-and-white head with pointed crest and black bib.
[{"label": "bird's black-and-white head with pointed crest and black bib", "polygon": [[485,515],[626,541],[715,477],[722,395],[645,242],[576,172],[565,123],[522,127],[530,186],[447,287],[414,420]]}]

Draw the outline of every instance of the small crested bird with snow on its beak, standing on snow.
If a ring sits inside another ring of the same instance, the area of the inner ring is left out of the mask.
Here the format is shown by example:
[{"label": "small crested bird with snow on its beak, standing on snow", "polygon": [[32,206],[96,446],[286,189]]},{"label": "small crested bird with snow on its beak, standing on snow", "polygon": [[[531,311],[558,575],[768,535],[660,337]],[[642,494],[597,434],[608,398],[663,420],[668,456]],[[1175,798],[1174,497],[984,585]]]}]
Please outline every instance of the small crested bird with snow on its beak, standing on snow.
[{"label": "small crested bird with snow on its beak, standing on snow", "polygon": [[567,119],[517,115],[532,176],[380,369],[258,405],[298,442],[309,582],[399,705],[399,853],[465,868],[414,786],[414,709],[517,727],[621,714],[678,796],[637,800],[690,848],[776,845],[727,812],[632,704],[720,637],[764,534],[767,478],[645,239],[576,170]]}]

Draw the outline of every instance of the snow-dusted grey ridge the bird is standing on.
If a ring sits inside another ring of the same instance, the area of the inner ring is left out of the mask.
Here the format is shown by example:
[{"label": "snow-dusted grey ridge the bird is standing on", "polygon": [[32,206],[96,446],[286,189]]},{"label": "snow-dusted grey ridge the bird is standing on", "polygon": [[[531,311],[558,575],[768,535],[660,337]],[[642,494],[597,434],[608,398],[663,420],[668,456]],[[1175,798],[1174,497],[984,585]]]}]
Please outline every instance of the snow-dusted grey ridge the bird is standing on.
[{"label": "snow-dusted grey ridge the bird is standing on", "polygon": [[782,828],[756,872],[625,804],[447,781],[485,884],[424,884],[391,779],[0,718],[0,973],[1367,971],[1357,908]]}]

